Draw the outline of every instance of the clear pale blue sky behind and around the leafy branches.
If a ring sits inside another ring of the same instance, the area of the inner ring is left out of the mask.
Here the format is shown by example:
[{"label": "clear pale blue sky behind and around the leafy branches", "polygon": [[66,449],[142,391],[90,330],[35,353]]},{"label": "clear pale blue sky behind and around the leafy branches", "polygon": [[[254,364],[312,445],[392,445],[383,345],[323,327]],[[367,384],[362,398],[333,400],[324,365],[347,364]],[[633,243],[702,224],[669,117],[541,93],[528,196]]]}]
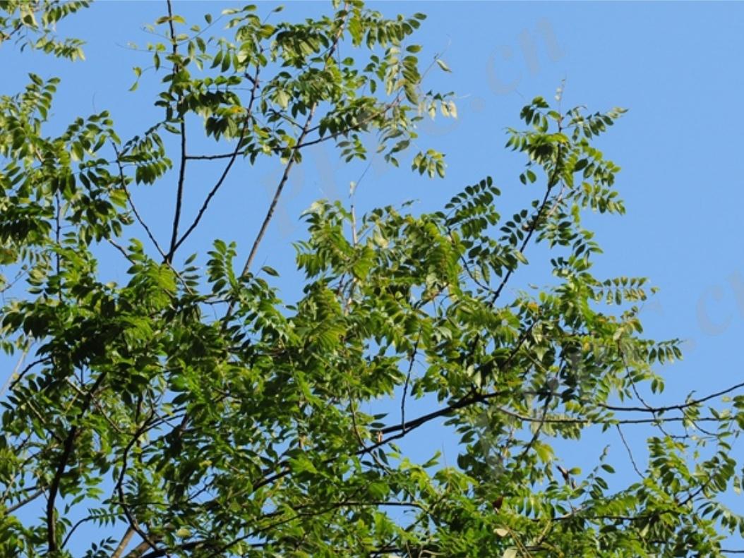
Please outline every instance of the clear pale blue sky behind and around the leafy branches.
[{"label": "clear pale blue sky behind and around the leafy branches", "polygon": [[[242,4],[176,0],[174,11],[189,23],[202,23],[202,13]],[[667,394],[663,399],[679,400],[693,390],[706,394],[740,382],[744,369],[744,356],[738,350],[744,339],[744,115],[740,109],[744,4],[396,1],[374,5],[388,15],[428,14],[415,40],[424,46],[420,60],[426,65],[435,53],[443,53],[452,74],[432,72],[426,89],[454,91],[459,118],[437,117],[421,129],[421,147],[446,153],[445,179],[414,175],[403,163],[405,158],[400,170],[374,161],[356,194],[358,211],[408,199],[419,200],[414,211],[436,210],[462,187],[488,175],[504,192],[502,214],[515,211],[519,207],[510,202],[531,199],[536,192],[525,192],[519,183],[524,161],[504,150],[504,128],[519,127],[521,107],[536,95],[552,100],[565,79],[563,108],[580,104],[592,112],[612,106],[629,109],[599,141],[600,149],[623,168],[618,189],[627,214],[591,218],[589,228],[597,231],[605,250],[595,274],[650,277],[661,292],[644,307],[647,333],[686,341],[684,361],[664,368]],[[259,13],[272,7],[274,3],[259,4]],[[329,8],[325,2],[289,3],[272,21]],[[86,39],[85,62],[19,55],[3,45],[0,94],[21,89],[29,71],[42,77],[58,75],[62,83],[54,105],[56,123],[108,109],[125,140],[144,132],[160,114],[152,102],[161,74],[146,71],[140,88],[128,92],[134,81],[132,66],[145,68],[151,56],[126,44],[143,46],[153,41],[142,25],[164,13],[164,1],[100,1],[71,17],[60,31]],[[330,144],[321,145],[304,155],[303,168],[290,180],[256,260],[258,266],[280,270],[280,286],[288,301],[300,286],[292,272],[290,243],[304,234],[298,219],[301,211],[321,197],[347,199],[349,182],[358,180],[364,169],[360,164],[342,164]],[[171,156],[175,159],[175,152]],[[185,207],[187,217],[219,173],[217,167],[198,165],[187,182],[187,196],[192,194]],[[240,254],[247,254],[279,169],[278,160],[258,167],[241,163],[220,191],[199,240],[187,246],[182,257],[193,251],[203,254],[214,237],[237,240]],[[166,179],[140,187],[136,194],[145,219],[163,243],[170,231],[174,190],[175,180]],[[113,256],[106,266],[108,257],[103,257],[104,273],[125,280],[121,269],[126,267],[115,264]],[[527,278],[545,282],[548,278],[542,273],[541,279],[541,272],[547,269],[537,265],[518,274],[513,286],[524,286]],[[5,365],[0,383],[9,371]],[[635,435],[642,441],[642,432]],[[617,442],[609,434],[594,435],[578,448],[591,455],[591,462],[601,445],[615,447]],[[423,452],[429,454],[429,449]],[[734,451],[737,459],[744,458],[744,446],[734,446]],[[454,449],[446,453],[452,464]],[[629,469],[620,448],[613,449],[612,455],[618,468]],[[744,512],[741,503],[734,499],[731,503]]]}]

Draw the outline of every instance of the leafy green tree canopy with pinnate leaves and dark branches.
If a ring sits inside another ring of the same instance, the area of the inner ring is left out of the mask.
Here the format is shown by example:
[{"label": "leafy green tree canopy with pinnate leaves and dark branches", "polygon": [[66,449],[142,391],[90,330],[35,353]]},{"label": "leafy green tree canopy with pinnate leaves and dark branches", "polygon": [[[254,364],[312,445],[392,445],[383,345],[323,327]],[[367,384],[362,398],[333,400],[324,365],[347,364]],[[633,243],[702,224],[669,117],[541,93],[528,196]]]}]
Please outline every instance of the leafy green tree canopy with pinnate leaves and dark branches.
[{"label": "leafy green tree canopy with pinnate leaves and dark branches", "polygon": [[[54,23],[87,5],[2,1],[0,44],[80,59]],[[623,109],[535,97],[506,138],[524,172],[473,177],[440,211],[316,202],[286,301],[254,259],[304,150],[365,160],[372,142],[443,176],[442,153],[411,147],[423,118],[457,117],[425,87],[449,68],[418,60],[423,14],[358,0],[301,22],[266,5],[198,25],[163,9],[132,86],[159,80],[161,118],[139,135],[120,138],[106,111],[49,132],[57,78],[0,98],[0,344],[18,362],[1,399],[0,555],[725,555],[744,533],[721,501],[742,485],[741,386],[656,405],[658,365],[682,353],[643,334],[654,289],[592,273],[583,216],[624,213],[594,140]],[[188,150],[196,132],[214,149]],[[236,161],[272,157],[283,173],[247,259],[231,239],[183,253]],[[187,217],[197,163],[217,179]],[[533,193],[524,208],[501,202],[513,178]],[[167,238],[137,210],[143,186],[173,190]],[[102,278],[106,246],[121,284]],[[545,286],[516,283],[530,250],[550,263]],[[458,435],[456,463],[397,445],[429,423]],[[589,470],[562,460],[562,440],[624,442],[638,425],[635,481],[618,485],[601,449]]]}]

